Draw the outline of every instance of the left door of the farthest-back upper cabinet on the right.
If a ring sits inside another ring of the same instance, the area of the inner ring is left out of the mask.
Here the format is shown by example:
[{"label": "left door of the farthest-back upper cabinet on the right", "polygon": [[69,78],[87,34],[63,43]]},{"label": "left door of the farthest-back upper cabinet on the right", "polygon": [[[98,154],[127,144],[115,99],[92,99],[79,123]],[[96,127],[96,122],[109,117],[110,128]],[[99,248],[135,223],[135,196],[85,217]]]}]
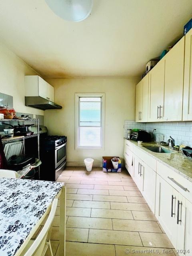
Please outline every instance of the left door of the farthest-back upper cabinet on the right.
[{"label": "left door of the farthest-back upper cabinet on the right", "polygon": [[136,85],[136,108],[135,120],[140,122],[142,117],[143,83],[142,80]]}]

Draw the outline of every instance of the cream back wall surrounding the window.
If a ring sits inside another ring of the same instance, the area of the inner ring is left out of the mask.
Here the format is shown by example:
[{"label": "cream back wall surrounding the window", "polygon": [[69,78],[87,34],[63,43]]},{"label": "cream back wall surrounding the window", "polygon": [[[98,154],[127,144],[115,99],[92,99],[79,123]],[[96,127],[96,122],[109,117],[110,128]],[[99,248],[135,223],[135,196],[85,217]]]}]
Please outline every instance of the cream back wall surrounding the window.
[{"label": "cream back wall surrounding the window", "polygon": [[[68,137],[68,165],[80,166],[84,158],[94,158],[95,166],[102,156],[123,157],[124,120],[135,118],[135,86],[139,78],[51,78],[46,79],[55,87],[55,101],[61,110],[44,113],[49,134]],[[75,150],[75,93],[100,92],[106,94],[105,148]]]}]

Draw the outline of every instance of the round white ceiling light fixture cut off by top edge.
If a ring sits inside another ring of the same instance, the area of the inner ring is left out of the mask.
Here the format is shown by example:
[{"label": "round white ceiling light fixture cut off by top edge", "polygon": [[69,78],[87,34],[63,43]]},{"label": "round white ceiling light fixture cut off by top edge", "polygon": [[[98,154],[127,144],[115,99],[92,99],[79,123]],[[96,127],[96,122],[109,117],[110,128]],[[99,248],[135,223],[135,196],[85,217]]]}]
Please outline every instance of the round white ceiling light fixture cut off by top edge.
[{"label": "round white ceiling light fixture cut off by top edge", "polygon": [[91,13],[93,0],[45,0],[51,10],[64,20],[79,22]]}]

